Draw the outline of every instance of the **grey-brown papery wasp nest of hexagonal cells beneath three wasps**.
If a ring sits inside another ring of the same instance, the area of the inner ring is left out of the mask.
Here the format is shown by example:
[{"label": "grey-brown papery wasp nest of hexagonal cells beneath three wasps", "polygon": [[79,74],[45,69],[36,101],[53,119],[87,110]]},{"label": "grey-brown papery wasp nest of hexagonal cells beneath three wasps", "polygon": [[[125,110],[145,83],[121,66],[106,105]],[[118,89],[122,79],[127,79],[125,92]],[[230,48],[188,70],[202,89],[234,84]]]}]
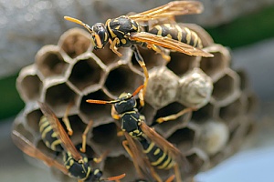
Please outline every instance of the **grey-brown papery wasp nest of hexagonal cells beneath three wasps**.
[{"label": "grey-brown papery wasp nest of hexagonal cells beneath three wasps", "polygon": [[[229,67],[231,57],[227,48],[216,45],[200,26],[184,26],[197,32],[204,50],[214,57],[170,52],[171,61],[167,63],[161,55],[140,48],[150,75],[141,112],[151,125],[158,117],[176,114],[184,108],[195,109],[192,115],[186,113],[154,125],[159,134],[186,156],[191,166],[189,177],[193,177],[237,151],[252,131],[255,102],[244,73]],[[39,134],[42,112],[37,100],[46,103],[59,118],[64,116],[68,104],[74,102],[68,116],[74,130],[72,142],[81,143],[81,134],[92,119],[93,126],[87,136],[88,155],[99,157],[109,151],[100,163],[104,176],[126,173],[122,181],[130,181],[137,174],[131,157],[121,145],[123,138],[117,136],[119,128],[111,117],[111,106],[86,103],[87,99],[111,100],[142,85],[142,68],[132,50],[119,51],[121,57],[108,47],[93,51],[89,33],[78,28],[61,35],[58,45],[42,47],[35,63],[23,68],[17,78],[16,86],[26,108],[16,118],[14,127],[37,148],[54,156]],[[172,174],[173,170],[169,172]],[[169,177],[163,172],[160,175]]]}]

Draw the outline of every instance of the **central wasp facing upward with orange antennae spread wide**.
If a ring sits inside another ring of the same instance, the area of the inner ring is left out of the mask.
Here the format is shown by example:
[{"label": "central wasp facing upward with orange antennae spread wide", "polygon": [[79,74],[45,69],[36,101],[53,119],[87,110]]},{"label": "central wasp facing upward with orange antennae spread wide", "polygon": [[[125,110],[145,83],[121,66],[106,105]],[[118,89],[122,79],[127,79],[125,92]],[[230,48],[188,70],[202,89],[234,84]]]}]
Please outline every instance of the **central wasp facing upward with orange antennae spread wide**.
[{"label": "central wasp facing upward with orange antennae spread wide", "polygon": [[[153,167],[166,170],[174,167],[176,181],[182,181],[179,164],[187,168],[188,162],[178,148],[160,136],[152,127],[146,125],[145,117],[139,112],[134,98],[142,88],[143,85],[139,86],[133,94],[122,93],[116,100],[89,99],[87,102],[112,105],[111,116],[116,120],[121,119],[121,131],[126,137],[122,145],[132,157],[133,165],[141,177],[152,175],[157,181],[162,181]],[[142,151],[138,147],[140,145]]]}]

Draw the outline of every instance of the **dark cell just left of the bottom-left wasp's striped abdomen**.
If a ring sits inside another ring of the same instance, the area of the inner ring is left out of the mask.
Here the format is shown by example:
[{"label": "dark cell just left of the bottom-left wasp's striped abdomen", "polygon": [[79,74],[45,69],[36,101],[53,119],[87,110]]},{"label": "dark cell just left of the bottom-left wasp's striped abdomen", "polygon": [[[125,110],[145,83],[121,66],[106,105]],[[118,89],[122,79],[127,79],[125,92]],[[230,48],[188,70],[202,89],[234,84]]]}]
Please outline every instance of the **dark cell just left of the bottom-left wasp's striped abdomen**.
[{"label": "dark cell just left of the bottom-left wasp's striped abdomen", "polygon": [[43,114],[39,109],[26,114],[26,124],[33,132],[39,133],[39,121],[41,116],[43,116]]}]

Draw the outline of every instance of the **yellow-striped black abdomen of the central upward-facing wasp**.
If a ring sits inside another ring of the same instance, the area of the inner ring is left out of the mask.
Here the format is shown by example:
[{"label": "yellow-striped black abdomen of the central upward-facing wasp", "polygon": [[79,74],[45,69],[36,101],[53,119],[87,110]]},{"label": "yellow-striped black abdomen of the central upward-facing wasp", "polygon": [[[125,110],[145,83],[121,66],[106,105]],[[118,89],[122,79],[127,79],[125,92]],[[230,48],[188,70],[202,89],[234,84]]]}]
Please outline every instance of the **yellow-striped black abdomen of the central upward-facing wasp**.
[{"label": "yellow-striped black abdomen of the central upward-facing wasp", "polygon": [[143,153],[149,158],[151,165],[159,169],[170,169],[174,167],[174,160],[168,156],[161,148],[157,147],[155,143],[149,142],[147,139],[140,137]]}]

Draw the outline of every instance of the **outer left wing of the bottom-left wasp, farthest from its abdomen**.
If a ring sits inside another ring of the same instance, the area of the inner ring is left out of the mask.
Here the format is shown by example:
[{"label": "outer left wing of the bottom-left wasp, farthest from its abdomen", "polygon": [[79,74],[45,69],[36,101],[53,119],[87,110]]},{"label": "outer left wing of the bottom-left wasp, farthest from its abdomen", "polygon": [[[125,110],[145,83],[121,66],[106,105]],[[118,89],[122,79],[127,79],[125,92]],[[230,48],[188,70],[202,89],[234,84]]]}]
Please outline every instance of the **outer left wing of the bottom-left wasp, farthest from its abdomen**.
[{"label": "outer left wing of the bottom-left wasp, farthest from its abdomen", "polygon": [[37,147],[35,147],[25,136],[21,135],[16,130],[12,131],[12,139],[16,144],[16,147],[20,148],[26,155],[34,158],[38,158],[44,161],[48,167],[56,167],[64,174],[68,175],[68,170],[66,167],[61,165],[57,160],[47,157],[43,152],[41,152]]}]

